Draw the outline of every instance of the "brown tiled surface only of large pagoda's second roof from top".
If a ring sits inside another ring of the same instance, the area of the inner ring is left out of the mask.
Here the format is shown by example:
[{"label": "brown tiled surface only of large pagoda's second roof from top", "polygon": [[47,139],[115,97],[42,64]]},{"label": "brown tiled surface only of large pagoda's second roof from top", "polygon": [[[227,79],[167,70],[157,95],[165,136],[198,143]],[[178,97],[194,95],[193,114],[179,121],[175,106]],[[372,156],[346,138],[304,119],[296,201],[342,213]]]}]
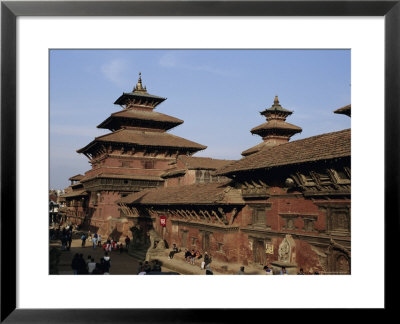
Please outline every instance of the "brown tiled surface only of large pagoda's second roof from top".
[{"label": "brown tiled surface only of large pagoda's second roof from top", "polygon": [[118,111],[116,113],[111,114],[110,117],[108,117],[97,127],[107,128],[107,125],[109,125],[116,118],[129,118],[133,120],[154,121],[154,122],[169,123],[174,125],[180,125],[183,123],[183,120],[181,119],[161,114],[153,110],[147,111],[147,110],[136,110],[136,109],[124,109],[122,111]]}]

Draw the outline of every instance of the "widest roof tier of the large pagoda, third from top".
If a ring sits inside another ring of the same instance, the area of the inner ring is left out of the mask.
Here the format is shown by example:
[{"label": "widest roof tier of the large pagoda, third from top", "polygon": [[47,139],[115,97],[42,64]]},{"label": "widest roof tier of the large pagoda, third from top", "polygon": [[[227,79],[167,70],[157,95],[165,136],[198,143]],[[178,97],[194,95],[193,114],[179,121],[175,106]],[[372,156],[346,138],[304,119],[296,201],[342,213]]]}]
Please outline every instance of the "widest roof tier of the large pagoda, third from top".
[{"label": "widest roof tier of the large pagoda, third from top", "polygon": [[189,141],[169,133],[147,132],[133,129],[119,129],[113,133],[96,137],[94,141],[77,150],[78,153],[86,153],[95,149],[98,145],[106,143],[123,144],[131,147],[163,147],[172,149],[184,149],[191,152],[204,150],[207,146]]}]

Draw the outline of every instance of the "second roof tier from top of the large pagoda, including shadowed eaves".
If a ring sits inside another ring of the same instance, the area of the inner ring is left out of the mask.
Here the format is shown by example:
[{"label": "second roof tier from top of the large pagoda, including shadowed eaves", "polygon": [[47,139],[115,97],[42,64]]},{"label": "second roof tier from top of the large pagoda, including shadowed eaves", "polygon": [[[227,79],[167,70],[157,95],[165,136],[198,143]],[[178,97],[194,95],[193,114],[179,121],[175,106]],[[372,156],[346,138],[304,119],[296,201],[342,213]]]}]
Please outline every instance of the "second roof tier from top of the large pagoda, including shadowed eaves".
[{"label": "second roof tier from top of the large pagoda, including shadowed eaves", "polygon": [[183,123],[183,120],[152,110],[124,109],[111,114],[97,128],[117,130],[123,126],[137,126],[168,130]]}]

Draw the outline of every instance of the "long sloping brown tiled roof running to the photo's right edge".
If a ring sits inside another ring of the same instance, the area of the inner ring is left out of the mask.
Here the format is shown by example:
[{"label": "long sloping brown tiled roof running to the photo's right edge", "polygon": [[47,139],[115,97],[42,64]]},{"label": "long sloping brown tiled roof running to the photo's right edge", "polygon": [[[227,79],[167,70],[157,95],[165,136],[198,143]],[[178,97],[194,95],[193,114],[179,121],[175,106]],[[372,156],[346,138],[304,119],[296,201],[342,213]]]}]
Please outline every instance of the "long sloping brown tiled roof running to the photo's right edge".
[{"label": "long sloping brown tiled roof running to the photo's right edge", "polygon": [[273,168],[351,155],[351,130],[327,133],[277,145],[265,146],[259,152],[218,170],[230,174],[245,170]]}]

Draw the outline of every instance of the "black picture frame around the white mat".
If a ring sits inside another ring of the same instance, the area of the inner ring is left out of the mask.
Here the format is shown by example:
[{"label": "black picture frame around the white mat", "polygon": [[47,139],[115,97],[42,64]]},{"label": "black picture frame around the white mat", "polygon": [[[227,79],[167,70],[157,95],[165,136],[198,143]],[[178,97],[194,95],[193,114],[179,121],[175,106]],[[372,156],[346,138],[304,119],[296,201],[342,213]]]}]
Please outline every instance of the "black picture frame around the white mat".
[{"label": "black picture frame around the white mat", "polygon": [[[16,19],[19,16],[384,16],[385,19],[385,307],[395,307],[399,234],[400,0],[392,1],[2,1],[1,2],[1,322],[232,322],[243,309],[16,308]],[[368,94],[366,94],[368,95]],[[380,112],[377,112],[380,113]],[[371,129],[371,131],[373,131]],[[373,173],[373,170],[371,170]],[[371,196],[374,196],[371,188]],[[370,197],[369,197],[370,199]],[[366,247],[367,248],[367,247]],[[383,267],[373,262],[371,269]],[[371,269],[365,269],[371,271]],[[373,272],[371,271],[371,275]],[[366,283],[367,285],[367,283]],[[367,293],[367,291],[366,291]],[[166,296],[165,298],[168,298]],[[238,293],[238,298],[250,298]],[[271,297],[269,297],[271,298]],[[158,300],[159,301],[159,300]],[[248,311],[248,310],[246,310]],[[264,318],[264,310],[251,310]],[[269,313],[270,314],[270,313]],[[246,314],[248,315],[248,314]],[[245,316],[246,316],[245,315]],[[253,317],[255,316],[255,317]],[[265,318],[264,318],[265,319]]]}]

